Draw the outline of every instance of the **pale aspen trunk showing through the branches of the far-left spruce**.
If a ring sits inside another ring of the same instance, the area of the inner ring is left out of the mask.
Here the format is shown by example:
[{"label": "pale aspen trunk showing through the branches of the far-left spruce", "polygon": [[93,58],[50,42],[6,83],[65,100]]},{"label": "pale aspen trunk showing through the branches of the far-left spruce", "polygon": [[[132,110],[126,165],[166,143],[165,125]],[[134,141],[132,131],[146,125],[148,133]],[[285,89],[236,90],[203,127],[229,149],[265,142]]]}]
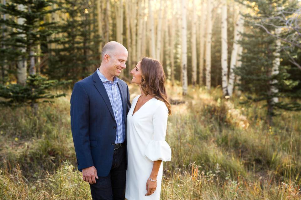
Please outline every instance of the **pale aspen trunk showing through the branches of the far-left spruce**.
[{"label": "pale aspen trunk showing through the branches of the far-left spruce", "polygon": [[[18,4],[18,9],[23,11],[24,10],[24,5],[23,4]],[[24,24],[24,22],[25,22],[24,18],[19,17],[17,19],[17,23],[20,24],[20,25]],[[20,34],[19,36],[20,37],[25,37],[25,34]],[[26,48],[20,47],[20,51],[22,53],[26,53]],[[21,84],[21,85],[25,85],[26,84],[26,79],[27,79],[27,61],[26,61],[25,56],[19,56],[18,57],[17,66],[18,66],[18,69],[17,69],[18,83]]]}]

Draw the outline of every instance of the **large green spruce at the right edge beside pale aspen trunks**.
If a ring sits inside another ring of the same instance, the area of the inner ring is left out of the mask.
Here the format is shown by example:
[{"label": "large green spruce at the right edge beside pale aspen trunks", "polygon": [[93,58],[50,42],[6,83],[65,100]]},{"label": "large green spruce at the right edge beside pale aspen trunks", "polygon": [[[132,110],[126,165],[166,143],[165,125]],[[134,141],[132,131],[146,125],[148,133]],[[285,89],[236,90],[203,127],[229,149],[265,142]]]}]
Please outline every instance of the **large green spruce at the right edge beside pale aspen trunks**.
[{"label": "large green spruce at the right edge beside pale aspen trunks", "polygon": [[[247,31],[242,34],[240,44],[245,53],[241,55],[241,67],[237,67],[235,73],[241,77],[239,88],[246,92],[249,101],[266,101],[267,122],[272,126],[272,117],[277,114],[277,109],[301,110],[301,105],[292,99],[300,98],[301,95],[292,91],[298,81],[289,78],[287,66],[280,63],[278,69],[273,70],[275,60],[280,56],[279,43],[276,37],[267,34],[256,24],[269,17],[270,22],[265,23],[266,28],[275,31],[275,26],[268,24],[281,23],[277,21],[277,16],[280,15],[278,8],[281,7],[285,11],[292,5],[286,0],[257,0],[246,6],[251,8],[253,13],[244,15]],[[278,102],[275,98],[279,99]]]}]

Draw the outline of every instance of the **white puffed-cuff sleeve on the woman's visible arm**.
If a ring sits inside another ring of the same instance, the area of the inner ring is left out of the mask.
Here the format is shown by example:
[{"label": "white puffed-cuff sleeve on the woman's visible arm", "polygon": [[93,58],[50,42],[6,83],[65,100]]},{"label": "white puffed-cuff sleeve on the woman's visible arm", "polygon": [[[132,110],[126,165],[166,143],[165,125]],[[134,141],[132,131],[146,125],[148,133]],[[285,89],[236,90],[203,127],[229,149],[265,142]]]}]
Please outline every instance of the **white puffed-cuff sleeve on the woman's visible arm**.
[{"label": "white puffed-cuff sleeve on the woman's visible arm", "polygon": [[160,103],[153,114],[154,139],[148,143],[145,156],[151,161],[170,161],[172,150],[165,141],[168,109],[165,103]]}]

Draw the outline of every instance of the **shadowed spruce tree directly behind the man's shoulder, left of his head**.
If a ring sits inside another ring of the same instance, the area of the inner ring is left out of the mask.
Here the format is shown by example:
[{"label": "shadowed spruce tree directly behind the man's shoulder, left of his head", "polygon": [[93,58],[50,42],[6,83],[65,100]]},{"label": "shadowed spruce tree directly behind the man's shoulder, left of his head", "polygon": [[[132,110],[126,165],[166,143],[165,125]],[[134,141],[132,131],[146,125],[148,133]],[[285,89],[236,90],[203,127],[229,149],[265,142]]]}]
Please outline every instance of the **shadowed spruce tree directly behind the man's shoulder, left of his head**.
[{"label": "shadowed spruce tree directly behind the man's shoulder, left of his head", "polygon": [[[100,54],[96,2],[66,0],[63,12],[68,18],[62,19],[59,27],[63,37],[55,38],[61,47],[49,49],[49,67],[43,73],[58,80],[73,80],[74,82],[87,77],[99,66]],[[90,15],[92,12],[92,16]]]}]

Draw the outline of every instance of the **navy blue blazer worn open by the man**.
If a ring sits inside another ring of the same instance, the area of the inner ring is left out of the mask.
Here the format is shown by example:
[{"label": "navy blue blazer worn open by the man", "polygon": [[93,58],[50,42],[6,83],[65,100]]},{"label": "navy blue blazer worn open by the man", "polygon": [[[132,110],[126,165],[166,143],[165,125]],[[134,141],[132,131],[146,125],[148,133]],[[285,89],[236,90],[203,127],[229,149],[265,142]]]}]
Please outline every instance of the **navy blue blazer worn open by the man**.
[{"label": "navy blue blazer worn open by the man", "polygon": [[[131,106],[129,88],[121,79],[117,85],[126,126],[126,116]],[[117,124],[107,91],[96,71],[74,84],[70,103],[71,132],[78,170],[95,166],[99,177],[108,176],[113,161]]]}]

